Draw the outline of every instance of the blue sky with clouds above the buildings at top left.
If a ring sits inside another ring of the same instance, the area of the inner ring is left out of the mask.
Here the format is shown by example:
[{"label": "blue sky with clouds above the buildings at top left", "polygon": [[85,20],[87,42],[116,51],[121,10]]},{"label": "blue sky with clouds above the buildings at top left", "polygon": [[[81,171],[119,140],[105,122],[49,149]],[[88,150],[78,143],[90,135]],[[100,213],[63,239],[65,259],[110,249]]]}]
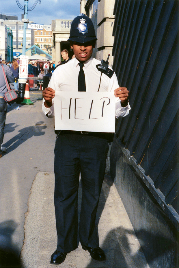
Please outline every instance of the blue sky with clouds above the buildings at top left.
[{"label": "blue sky with clouds above the buildings at top left", "polygon": [[[24,6],[24,0],[18,0]],[[18,16],[21,20],[21,10],[16,0],[0,1],[0,14]],[[28,8],[31,8],[36,0],[29,0]],[[80,13],[80,0],[41,0],[32,11],[28,11],[27,19],[38,24],[51,24],[55,19],[74,19]]]}]

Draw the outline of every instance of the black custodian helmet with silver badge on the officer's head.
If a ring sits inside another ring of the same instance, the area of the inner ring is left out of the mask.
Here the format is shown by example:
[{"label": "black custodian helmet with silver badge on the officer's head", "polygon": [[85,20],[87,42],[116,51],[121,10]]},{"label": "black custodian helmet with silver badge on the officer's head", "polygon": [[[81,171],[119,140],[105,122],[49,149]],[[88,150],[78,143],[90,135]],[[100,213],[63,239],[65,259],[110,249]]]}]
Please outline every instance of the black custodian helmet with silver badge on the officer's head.
[{"label": "black custodian helmet with silver badge on the officer's head", "polygon": [[97,40],[92,20],[81,13],[72,21],[68,41],[84,44],[92,40]]}]

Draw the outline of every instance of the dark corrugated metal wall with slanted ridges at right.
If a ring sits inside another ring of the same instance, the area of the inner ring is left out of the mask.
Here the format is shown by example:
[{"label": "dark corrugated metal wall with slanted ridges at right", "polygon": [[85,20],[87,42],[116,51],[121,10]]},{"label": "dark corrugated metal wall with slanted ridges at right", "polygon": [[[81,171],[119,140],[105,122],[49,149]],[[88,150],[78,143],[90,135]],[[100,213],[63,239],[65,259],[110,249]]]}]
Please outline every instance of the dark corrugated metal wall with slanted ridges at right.
[{"label": "dark corrugated metal wall with slanted ridges at right", "polygon": [[132,110],[116,135],[178,211],[178,1],[116,0],[113,69]]}]

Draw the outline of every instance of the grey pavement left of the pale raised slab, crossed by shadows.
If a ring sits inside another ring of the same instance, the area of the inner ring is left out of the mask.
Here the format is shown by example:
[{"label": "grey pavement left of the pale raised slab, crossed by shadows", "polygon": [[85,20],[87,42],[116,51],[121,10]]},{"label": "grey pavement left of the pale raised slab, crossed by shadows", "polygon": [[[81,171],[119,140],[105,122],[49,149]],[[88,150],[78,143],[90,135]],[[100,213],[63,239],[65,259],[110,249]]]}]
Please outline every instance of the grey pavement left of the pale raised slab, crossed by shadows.
[{"label": "grey pavement left of the pale raised slab, crossed by shadows", "polygon": [[42,113],[42,92],[30,92],[30,97],[34,105],[8,105],[3,141],[7,152],[0,158],[0,267],[21,267],[32,182],[37,172],[53,171],[54,121]]}]

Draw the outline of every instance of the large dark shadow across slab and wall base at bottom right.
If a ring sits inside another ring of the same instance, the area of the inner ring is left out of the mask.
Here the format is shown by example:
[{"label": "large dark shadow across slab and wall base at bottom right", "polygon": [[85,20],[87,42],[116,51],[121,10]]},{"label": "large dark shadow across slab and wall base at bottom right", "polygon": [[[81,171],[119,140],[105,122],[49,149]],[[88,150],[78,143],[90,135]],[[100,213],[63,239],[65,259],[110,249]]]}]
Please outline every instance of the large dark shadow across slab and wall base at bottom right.
[{"label": "large dark shadow across slab and wall base at bottom right", "polygon": [[[176,256],[171,256],[171,252],[176,250],[177,245],[174,244],[173,241],[170,241],[167,236],[163,237],[161,235],[153,234],[153,239],[159,240],[161,246],[159,248],[149,248],[147,241],[148,236],[151,236],[150,232],[147,232],[144,229],[140,229],[135,233],[132,230],[128,230],[123,227],[118,227],[116,229],[111,230],[107,234],[106,239],[101,246],[102,249],[104,249],[105,251],[107,260],[111,259],[110,267],[146,267],[146,263],[144,263],[140,257],[142,248],[133,248],[133,246],[131,247],[132,244],[130,243],[130,238],[132,236],[136,237],[136,235],[140,240],[141,246],[143,248],[146,247],[148,249],[148,256],[146,257],[149,261],[150,267],[156,267],[156,265],[159,265],[159,260],[161,260],[162,262],[163,255],[166,255],[166,252],[168,252],[169,258],[175,258],[174,262],[177,265]],[[143,237],[145,237],[145,240],[142,239]],[[166,260],[163,260],[163,262],[165,261]],[[162,265],[164,265],[164,263],[161,263],[160,267],[166,267]],[[91,262],[87,265],[87,267],[109,267],[109,263],[105,261],[99,263],[92,259]]]}]

